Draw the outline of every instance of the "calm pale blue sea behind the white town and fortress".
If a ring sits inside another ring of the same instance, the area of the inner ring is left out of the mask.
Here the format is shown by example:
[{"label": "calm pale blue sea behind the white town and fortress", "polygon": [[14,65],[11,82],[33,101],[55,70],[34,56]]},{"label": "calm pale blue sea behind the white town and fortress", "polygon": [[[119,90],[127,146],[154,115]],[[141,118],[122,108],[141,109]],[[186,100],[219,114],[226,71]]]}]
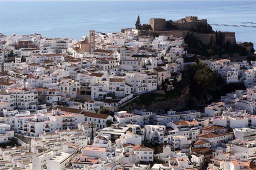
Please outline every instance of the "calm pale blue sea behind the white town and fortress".
[{"label": "calm pale blue sea behind the white town and fortress", "polygon": [[[79,39],[88,29],[111,32],[134,27],[138,14],[142,23],[151,17],[176,20],[196,15],[209,23],[239,25],[256,22],[256,1],[0,1],[0,32]],[[256,44],[256,28],[212,27],[234,31],[237,41]]]}]

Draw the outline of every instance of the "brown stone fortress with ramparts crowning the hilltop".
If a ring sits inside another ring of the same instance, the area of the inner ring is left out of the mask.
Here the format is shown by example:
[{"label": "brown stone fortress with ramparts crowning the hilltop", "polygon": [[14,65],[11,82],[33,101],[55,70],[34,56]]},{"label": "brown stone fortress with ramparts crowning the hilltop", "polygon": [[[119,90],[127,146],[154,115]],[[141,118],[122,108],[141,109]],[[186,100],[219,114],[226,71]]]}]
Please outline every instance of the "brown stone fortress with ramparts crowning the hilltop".
[{"label": "brown stone fortress with ramparts crowning the hilltop", "polygon": [[[151,31],[159,34],[173,35],[176,37],[185,37],[186,35],[191,34],[197,40],[201,40],[205,45],[215,44],[216,37],[214,31],[211,29],[210,25],[208,25],[207,19],[198,19],[197,16],[185,16],[185,18],[181,18],[176,21],[166,21],[165,18],[150,18],[149,24],[152,28]],[[211,32],[201,33],[195,31],[196,28],[208,28]],[[141,30],[139,31],[139,34],[146,34],[151,31]],[[222,32],[222,35],[223,43],[227,41],[230,43],[236,43],[234,32]]]}]

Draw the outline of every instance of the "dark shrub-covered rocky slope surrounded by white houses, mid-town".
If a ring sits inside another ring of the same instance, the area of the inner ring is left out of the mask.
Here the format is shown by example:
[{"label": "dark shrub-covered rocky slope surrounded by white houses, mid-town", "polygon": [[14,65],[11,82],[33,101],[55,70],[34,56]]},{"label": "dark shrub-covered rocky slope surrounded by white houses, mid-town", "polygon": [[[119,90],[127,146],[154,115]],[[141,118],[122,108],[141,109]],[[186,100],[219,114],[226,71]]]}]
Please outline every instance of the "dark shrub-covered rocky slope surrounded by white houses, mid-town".
[{"label": "dark shrub-covered rocky slope surrounded by white houses, mid-town", "polygon": [[171,91],[158,90],[141,94],[121,109],[146,109],[157,113],[173,110],[189,110],[202,108],[211,102],[219,101],[221,95],[236,89],[245,89],[242,83],[225,84],[204,64],[194,64],[189,70],[182,72],[182,80],[173,82]]}]

